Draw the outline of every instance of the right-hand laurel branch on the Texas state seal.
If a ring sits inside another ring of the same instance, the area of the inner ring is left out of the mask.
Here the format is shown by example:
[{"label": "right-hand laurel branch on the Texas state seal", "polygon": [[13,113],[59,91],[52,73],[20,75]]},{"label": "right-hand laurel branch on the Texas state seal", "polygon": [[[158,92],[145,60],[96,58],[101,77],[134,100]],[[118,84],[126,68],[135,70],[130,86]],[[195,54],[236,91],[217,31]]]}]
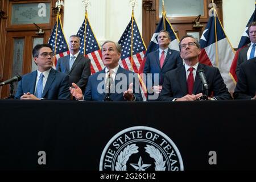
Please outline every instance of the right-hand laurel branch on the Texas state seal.
[{"label": "right-hand laurel branch on the Texas state seal", "polygon": [[155,159],[155,171],[165,171],[166,161],[163,160],[163,155],[160,153],[160,151],[154,146],[150,146],[148,144],[147,147],[144,148],[150,157]]}]

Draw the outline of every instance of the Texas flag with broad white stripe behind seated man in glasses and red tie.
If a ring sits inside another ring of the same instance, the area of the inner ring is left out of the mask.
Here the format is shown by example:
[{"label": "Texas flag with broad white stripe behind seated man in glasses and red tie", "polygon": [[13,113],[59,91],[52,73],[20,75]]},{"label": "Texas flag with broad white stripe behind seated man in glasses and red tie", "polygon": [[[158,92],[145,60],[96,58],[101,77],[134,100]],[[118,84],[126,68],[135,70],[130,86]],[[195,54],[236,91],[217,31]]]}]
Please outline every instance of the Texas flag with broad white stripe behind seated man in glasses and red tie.
[{"label": "Texas flag with broad white stripe behind seated man in glasses and red tie", "polygon": [[200,45],[201,53],[199,55],[199,62],[217,67],[229,92],[234,92],[236,85],[229,75],[229,69],[234,59],[234,49],[223,30],[216,11],[209,18],[201,36]]}]

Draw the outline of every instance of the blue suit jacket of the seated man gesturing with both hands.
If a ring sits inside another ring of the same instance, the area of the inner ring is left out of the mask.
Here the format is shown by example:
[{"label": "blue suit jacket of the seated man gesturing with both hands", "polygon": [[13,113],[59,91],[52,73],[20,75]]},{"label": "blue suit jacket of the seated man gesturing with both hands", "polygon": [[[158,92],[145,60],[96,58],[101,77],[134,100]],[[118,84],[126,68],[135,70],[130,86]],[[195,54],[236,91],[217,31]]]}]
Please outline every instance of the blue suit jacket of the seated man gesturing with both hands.
[{"label": "blue suit jacket of the seated man gesturing with both hands", "polygon": [[[117,86],[118,83],[121,84],[122,80],[117,79],[117,75],[119,73],[123,73],[127,78],[127,81],[125,81],[126,88],[123,88],[124,89],[123,91],[127,90],[129,88],[130,83],[133,81],[134,82],[133,90],[134,90],[134,95],[136,97],[136,101],[143,101],[141,93],[139,92],[138,89],[135,89],[135,84],[138,84],[138,83],[135,82],[134,79],[132,79],[131,81],[129,80],[129,73],[132,73],[134,75],[134,72],[127,71],[126,69],[119,67],[117,70],[117,74],[115,75],[115,80],[113,81],[114,82],[113,85]],[[104,98],[106,96],[106,94],[104,92],[105,74],[106,74],[105,69],[103,69],[102,71],[94,73],[93,75],[91,75],[89,77],[88,84],[86,86],[86,90],[84,93],[84,100],[86,100],[86,101],[104,101]],[[119,76],[121,76],[121,75],[119,75]],[[101,93],[98,92],[99,90]],[[123,99],[123,92],[117,93],[114,90],[114,92],[110,92],[109,97],[113,101],[125,101]]]}]

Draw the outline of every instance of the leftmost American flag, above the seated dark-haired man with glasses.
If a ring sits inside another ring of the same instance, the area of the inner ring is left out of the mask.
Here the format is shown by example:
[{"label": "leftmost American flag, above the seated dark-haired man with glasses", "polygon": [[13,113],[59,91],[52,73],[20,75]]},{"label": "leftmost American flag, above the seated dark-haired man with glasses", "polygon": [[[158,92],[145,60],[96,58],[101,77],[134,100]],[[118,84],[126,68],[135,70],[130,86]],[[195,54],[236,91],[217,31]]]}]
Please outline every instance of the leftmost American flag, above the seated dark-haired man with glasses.
[{"label": "leftmost American flag, above the seated dark-haired man with glasses", "polygon": [[52,49],[53,49],[52,51],[54,52],[54,55],[55,55],[55,62],[53,65],[53,67],[55,67],[55,65],[57,64],[57,60],[60,57],[69,55],[68,43],[63,34],[60,15],[58,15],[55,26],[49,38],[48,44],[52,46]]}]

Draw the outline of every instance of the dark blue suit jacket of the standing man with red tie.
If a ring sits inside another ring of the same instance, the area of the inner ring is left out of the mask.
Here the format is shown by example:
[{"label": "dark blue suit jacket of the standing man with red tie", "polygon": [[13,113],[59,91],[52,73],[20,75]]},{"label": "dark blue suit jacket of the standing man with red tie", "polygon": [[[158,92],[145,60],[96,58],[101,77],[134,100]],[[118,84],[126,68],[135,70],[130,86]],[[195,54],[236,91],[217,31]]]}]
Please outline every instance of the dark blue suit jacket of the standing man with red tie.
[{"label": "dark blue suit jacket of the standing man with red tie", "polygon": [[158,49],[157,51],[148,53],[143,73],[152,73],[152,84],[154,84],[155,82],[154,74],[158,73],[159,85],[163,85],[164,75],[166,74],[166,72],[182,66],[183,60],[180,57],[180,52],[169,48],[166,59],[164,59],[163,67],[161,69]]}]

